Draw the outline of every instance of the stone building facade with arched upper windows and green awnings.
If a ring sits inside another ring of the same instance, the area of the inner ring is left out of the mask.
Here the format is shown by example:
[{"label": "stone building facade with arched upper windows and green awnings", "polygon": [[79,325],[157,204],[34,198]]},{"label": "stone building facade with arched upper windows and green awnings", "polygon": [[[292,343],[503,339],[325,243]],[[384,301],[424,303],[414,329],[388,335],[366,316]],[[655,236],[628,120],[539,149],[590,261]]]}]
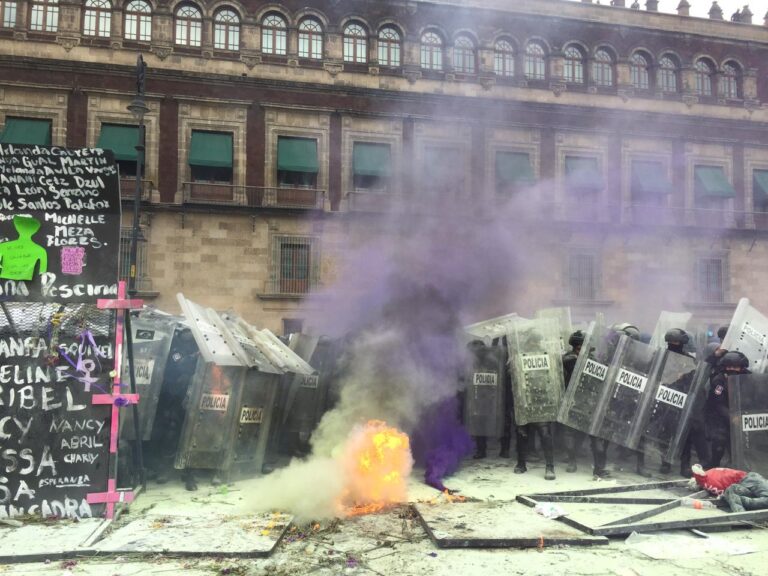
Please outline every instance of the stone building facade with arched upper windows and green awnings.
[{"label": "stone building facade with arched upper windows and green awnings", "polygon": [[643,4],[0,0],[2,138],[121,148],[129,228],[143,55],[139,274],[169,311],[298,329],[360,238],[446,199],[537,238],[520,313],[768,310],[768,26]]}]

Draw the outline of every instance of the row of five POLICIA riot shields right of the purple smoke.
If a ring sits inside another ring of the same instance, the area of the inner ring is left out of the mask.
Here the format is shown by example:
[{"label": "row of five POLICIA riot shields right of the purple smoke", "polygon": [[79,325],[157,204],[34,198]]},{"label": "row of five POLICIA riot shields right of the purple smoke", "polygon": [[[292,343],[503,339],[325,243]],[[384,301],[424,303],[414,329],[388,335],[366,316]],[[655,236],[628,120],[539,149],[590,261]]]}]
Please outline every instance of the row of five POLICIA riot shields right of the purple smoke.
[{"label": "row of five POLICIA riot shields right of the purple smoke", "polygon": [[[516,425],[559,422],[675,461],[691,415],[705,399],[709,365],[592,322],[565,382],[558,324],[552,314],[533,320],[509,315],[470,327],[475,340],[464,378],[468,432],[500,436],[504,411],[512,405]],[[508,390],[501,385],[506,380]],[[510,393],[511,402],[505,396]]]}]

